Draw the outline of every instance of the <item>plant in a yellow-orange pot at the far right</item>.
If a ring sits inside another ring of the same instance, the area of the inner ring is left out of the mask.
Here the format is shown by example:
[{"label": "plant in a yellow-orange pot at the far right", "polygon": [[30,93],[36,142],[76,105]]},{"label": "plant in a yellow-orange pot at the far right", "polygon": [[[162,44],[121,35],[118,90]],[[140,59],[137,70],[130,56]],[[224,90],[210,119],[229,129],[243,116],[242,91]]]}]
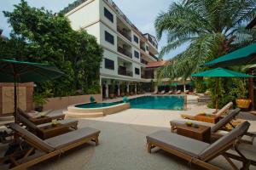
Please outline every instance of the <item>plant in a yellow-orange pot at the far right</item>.
[{"label": "plant in a yellow-orange pot at the far right", "polygon": [[[240,82],[240,83],[239,83]],[[252,100],[246,98],[246,88],[245,82],[239,81],[238,87],[234,88],[236,91],[237,99],[236,99],[236,106],[241,109],[248,109],[251,105]]]}]

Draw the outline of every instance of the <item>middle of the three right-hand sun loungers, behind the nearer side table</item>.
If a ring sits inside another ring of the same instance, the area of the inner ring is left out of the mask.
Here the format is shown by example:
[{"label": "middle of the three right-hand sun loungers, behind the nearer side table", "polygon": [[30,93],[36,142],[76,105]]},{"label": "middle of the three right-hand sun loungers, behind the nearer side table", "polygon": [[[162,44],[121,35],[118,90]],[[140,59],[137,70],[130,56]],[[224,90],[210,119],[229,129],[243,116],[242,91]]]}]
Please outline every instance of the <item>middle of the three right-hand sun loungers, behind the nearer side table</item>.
[{"label": "middle of the three right-hand sun loungers, behind the nearer side table", "polygon": [[[239,108],[237,108],[234,111],[230,111],[230,113],[227,116],[224,116],[224,118],[221,119],[216,124],[209,123],[209,122],[193,121],[193,120],[191,120],[191,121],[189,120],[189,122],[191,122],[193,125],[201,125],[201,126],[211,127],[212,139],[213,138],[219,139],[222,136],[229,133],[230,129],[227,129],[226,126],[229,124],[232,125],[231,124],[232,120],[236,118],[236,116],[240,113],[240,111],[241,111],[241,109],[239,109]],[[184,124],[186,124],[186,122],[188,122],[188,120],[184,120],[184,119],[172,120],[170,122],[172,133],[175,132],[176,127],[178,125],[184,125]],[[256,134],[246,133],[246,135],[244,135],[241,138],[241,141],[245,142],[247,144],[253,144],[253,140],[255,137],[256,137]]]}]

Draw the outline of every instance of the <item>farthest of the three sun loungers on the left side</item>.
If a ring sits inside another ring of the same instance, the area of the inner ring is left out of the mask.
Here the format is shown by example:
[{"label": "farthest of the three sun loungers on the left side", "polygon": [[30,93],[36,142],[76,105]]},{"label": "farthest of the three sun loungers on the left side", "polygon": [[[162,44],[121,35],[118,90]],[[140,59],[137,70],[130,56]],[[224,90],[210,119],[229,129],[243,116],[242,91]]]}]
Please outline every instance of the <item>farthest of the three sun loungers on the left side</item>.
[{"label": "farthest of the three sun loungers on the left side", "polygon": [[61,112],[48,111],[46,114],[44,113],[43,116],[40,116],[40,113],[26,113],[25,111],[22,111],[20,108],[18,108],[18,113],[22,116],[25,116],[27,119],[37,125],[51,122],[52,120],[61,120],[65,118],[65,114]]}]

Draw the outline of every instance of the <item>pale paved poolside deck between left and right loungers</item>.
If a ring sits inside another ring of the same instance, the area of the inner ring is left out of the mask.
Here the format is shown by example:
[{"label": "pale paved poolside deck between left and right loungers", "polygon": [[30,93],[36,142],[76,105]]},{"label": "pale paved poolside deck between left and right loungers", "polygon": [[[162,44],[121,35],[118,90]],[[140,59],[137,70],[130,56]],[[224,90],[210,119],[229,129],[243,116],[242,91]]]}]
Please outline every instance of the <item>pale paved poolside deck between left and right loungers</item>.
[{"label": "pale paved poolside deck between left and right loungers", "polygon": [[[180,170],[199,169],[190,166],[186,161],[172,156],[162,150],[154,150],[148,154],[146,150],[146,135],[163,129],[170,130],[170,120],[179,118],[180,113],[214,110],[207,109],[206,105],[198,105],[195,96],[188,98],[189,111],[160,111],[129,109],[117,114],[79,119],[79,127],[95,127],[101,130],[100,144],[86,144],[77,150],[49,161],[44,161],[31,169],[35,170]],[[256,121],[251,122],[250,131],[256,132]],[[243,144],[246,156],[256,160],[256,144]],[[212,160],[213,164],[231,169],[223,157]],[[236,162],[237,163],[237,162]],[[256,169],[251,167],[250,169]]]}]

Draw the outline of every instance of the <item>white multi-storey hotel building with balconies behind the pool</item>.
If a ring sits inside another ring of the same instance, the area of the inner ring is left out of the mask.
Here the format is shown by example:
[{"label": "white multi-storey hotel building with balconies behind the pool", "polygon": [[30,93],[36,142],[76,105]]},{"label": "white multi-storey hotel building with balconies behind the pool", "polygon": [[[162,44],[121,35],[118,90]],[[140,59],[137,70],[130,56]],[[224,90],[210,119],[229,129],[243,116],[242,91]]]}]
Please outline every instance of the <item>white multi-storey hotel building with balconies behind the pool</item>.
[{"label": "white multi-storey hotel building with balconies behind the pool", "polygon": [[115,83],[119,95],[121,83],[125,83],[127,92],[132,84],[137,93],[138,82],[154,79],[154,69],[147,65],[158,60],[155,37],[139,31],[112,0],[79,0],[63,12],[74,30],[86,30],[104,49],[100,71],[104,97],[108,98],[111,83]]}]

